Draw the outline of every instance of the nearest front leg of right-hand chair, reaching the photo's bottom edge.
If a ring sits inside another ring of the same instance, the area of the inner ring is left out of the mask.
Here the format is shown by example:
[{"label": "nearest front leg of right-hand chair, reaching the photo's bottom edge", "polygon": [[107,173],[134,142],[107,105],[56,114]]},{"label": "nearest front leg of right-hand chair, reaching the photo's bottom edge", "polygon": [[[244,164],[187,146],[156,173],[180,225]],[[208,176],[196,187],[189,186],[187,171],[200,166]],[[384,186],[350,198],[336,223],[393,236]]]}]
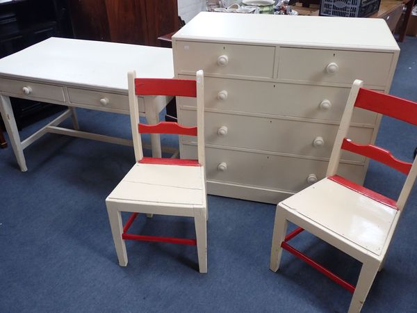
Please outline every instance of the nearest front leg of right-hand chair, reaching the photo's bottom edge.
[{"label": "nearest front leg of right-hand chair, reaching the photo's bottom edge", "polygon": [[377,275],[378,268],[378,262],[368,261],[363,263],[348,313],[361,312],[362,305],[365,302],[366,296],[368,296],[375,275]]}]

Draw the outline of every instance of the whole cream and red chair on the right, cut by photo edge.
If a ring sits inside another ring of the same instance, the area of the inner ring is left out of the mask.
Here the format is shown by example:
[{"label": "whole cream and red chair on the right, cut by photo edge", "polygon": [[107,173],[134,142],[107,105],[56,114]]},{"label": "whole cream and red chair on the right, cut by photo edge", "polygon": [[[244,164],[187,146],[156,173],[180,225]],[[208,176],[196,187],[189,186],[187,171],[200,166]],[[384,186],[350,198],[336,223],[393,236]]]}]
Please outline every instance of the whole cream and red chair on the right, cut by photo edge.
[{"label": "whole cream and red chair on the right, cut by photo edge", "polygon": [[[360,145],[345,138],[354,107],[417,125],[417,103],[361,86],[362,81],[354,81],[330,157],[327,177],[277,205],[270,256],[272,271],[278,270],[284,248],[341,284],[353,293],[349,312],[361,310],[375,275],[384,264],[398,218],[417,175],[417,161],[412,164],[400,161],[380,147]],[[387,198],[336,175],[341,150],[361,154],[407,175],[398,200]],[[288,221],[300,227],[286,235]],[[290,239],[303,230],[362,262],[356,287],[288,244]]]}]

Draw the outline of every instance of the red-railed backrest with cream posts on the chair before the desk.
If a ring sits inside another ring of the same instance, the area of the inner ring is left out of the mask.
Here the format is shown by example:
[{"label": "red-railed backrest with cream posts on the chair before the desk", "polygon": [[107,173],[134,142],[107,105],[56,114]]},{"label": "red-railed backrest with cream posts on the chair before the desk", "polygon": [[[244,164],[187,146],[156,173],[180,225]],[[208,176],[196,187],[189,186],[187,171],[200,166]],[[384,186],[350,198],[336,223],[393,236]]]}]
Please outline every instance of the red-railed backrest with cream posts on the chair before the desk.
[{"label": "red-railed backrest with cream posts on the chair before the desk", "polygon": [[[127,74],[129,109],[133,147],[136,161],[143,159],[140,134],[178,134],[197,136],[198,163],[205,165],[204,157],[204,72],[196,72],[196,79],[136,78],[136,72]],[[138,96],[182,96],[197,98],[197,126],[185,127],[177,122],[159,122],[145,125],[139,122]]]}]

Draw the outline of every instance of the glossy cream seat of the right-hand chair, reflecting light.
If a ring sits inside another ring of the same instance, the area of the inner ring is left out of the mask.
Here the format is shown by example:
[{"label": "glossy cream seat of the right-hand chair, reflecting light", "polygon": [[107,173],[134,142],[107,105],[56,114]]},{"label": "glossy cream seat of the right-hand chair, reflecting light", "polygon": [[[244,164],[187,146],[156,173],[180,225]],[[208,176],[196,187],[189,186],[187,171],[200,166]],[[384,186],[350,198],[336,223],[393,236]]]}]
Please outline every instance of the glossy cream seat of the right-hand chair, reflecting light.
[{"label": "glossy cream seat of the right-hand chair, reflecting light", "polygon": [[327,178],[280,202],[279,206],[378,256],[395,216],[400,214],[398,209]]}]

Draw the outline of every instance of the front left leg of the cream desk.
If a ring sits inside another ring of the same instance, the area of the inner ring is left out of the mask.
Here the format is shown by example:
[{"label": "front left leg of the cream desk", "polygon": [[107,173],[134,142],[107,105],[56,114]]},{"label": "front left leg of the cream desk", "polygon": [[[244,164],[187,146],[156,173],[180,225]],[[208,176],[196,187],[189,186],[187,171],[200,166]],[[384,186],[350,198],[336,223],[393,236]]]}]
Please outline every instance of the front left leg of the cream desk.
[{"label": "front left leg of the cream desk", "polygon": [[19,131],[17,130],[15,115],[13,115],[12,104],[10,103],[10,98],[4,95],[0,95],[0,113],[3,117],[3,122],[10,138],[10,144],[12,145],[13,152],[15,152],[20,170],[22,170],[22,172],[26,172],[28,168],[26,167],[23,149],[20,143]]}]

